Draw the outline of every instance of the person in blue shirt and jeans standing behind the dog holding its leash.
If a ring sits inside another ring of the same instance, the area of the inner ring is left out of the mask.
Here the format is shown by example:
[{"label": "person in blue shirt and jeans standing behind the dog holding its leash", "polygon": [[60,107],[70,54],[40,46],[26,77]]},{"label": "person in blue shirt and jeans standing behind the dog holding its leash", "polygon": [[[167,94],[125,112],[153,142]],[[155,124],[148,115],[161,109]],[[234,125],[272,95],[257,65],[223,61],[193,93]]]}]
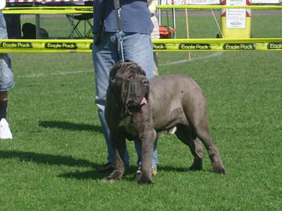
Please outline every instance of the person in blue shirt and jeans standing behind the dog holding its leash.
[{"label": "person in blue shirt and jeans standing behind the dog holding its leash", "polygon": [[[120,0],[120,26],[123,40],[123,54],[125,59],[135,61],[147,74],[153,77],[153,49],[151,32],[153,24],[151,13],[148,9],[147,0]],[[121,60],[121,49],[119,45],[119,33],[117,32],[117,19],[113,0],[95,0],[94,7],[94,40],[92,45],[92,56],[95,70],[95,103],[98,107],[98,116],[102,124],[103,133],[107,143],[108,162],[99,168],[98,172],[108,172],[114,169],[114,152],[109,140],[108,129],[104,111],[106,103],[106,92],[109,84],[109,72],[117,61]],[[141,163],[141,143],[134,141],[138,160]],[[125,164],[129,165],[129,155],[126,150]],[[152,174],[157,169],[157,140],[154,143],[152,156]],[[140,168],[137,174],[140,173]]]}]

